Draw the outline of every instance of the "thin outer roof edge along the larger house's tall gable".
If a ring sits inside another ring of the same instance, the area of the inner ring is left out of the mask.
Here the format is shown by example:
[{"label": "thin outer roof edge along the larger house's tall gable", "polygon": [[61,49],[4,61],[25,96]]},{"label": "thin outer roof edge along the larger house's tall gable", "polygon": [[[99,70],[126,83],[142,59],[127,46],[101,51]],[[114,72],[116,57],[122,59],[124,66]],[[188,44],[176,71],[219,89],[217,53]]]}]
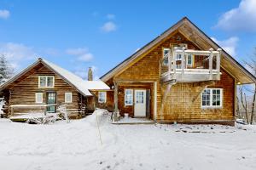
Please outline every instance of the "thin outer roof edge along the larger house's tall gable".
[{"label": "thin outer roof edge along the larger house's tall gable", "polygon": [[[109,74],[111,74],[111,72],[115,71],[116,69],[118,69],[119,66],[121,66],[122,64],[125,63],[125,61],[128,61],[129,59],[132,59],[133,57],[135,57],[138,53],[142,52],[144,48],[147,48],[148,45],[150,45],[152,42],[156,41],[158,38],[160,38],[161,36],[163,36],[167,31],[170,31],[172,30],[173,27],[177,26],[178,24],[180,24],[181,22],[183,22],[184,20],[187,20],[189,21],[189,23],[192,25],[192,26],[195,26],[195,24],[189,20],[188,17],[183,17],[182,20],[179,20],[177,21],[176,24],[174,24],[173,26],[171,26],[170,28],[168,28],[166,31],[164,31],[163,33],[160,34],[160,36],[158,37],[155,37],[152,41],[148,42],[146,45],[143,46],[143,48],[140,48],[139,50],[137,50],[137,52],[135,52],[134,54],[131,54],[131,56],[129,56],[128,58],[126,58],[125,60],[123,60],[122,62],[120,62],[118,65],[114,66],[113,69],[111,69],[110,71],[108,71],[106,74],[104,74],[102,77],[100,77],[100,79],[102,79],[102,81],[108,81],[109,79],[107,80],[104,80],[104,78],[108,77]],[[207,37],[210,42],[212,42],[213,45],[215,45],[217,48],[221,48],[218,43],[214,42],[212,40],[212,38],[208,37],[207,34],[204,32],[204,31],[201,31],[201,29],[198,27],[198,26],[195,26],[195,29],[197,29],[200,33],[202,33],[203,36]],[[240,70],[246,74],[251,80],[252,80],[252,83],[253,82],[256,82],[256,77],[253,76],[253,74],[249,71],[247,71],[247,69],[244,68],[243,65],[241,65],[236,59],[234,59],[230,54],[228,54],[223,48],[223,54],[225,54],[227,56],[227,59],[229,59],[231,62],[233,62],[235,65],[237,65],[238,67],[240,67]]]}]

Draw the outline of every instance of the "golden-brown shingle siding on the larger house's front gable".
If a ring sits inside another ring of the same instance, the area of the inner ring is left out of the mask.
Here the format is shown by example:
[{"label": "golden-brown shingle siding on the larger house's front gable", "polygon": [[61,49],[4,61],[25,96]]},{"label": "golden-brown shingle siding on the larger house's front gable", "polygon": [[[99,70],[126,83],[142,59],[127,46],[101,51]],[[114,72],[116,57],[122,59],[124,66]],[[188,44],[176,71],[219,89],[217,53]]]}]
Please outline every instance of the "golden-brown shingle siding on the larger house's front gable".
[{"label": "golden-brown shingle siding on the larger house's front gable", "polygon": [[[178,37],[178,38],[177,38]],[[177,41],[178,39],[178,41]],[[174,122],[178,120],[222,120],[233,119],[234,113],[234,88],[235,82],[230,75],[226,72],[223,72],[221,76],[221,80],[218,81],[214,87],[221,87],[224,88],[224,99],[223,105],[224,107],[221,109],[208,109],[203,110],[201,109],[201,95],[198,99],[195,99],[194,104],[191,105],[191,110],[189,109],[188,105],[181,105],[181,98],[180,90],[183,88],[183,94],[186,94],[185,101],[192,102],[194,99],[195,94],[201,92],[201,87],[194,87],[195,85],[192,84],[176,84],[172,87],[172,99],[171,96],[168,97],[166,105],[164,106],[164,111],[161,111],[161,99],[162,99],[162,90],[164,91],[166,87],[162,87],[160,83],[160,59],[163,56],[163,48],[170,48],[172,44],[177,43],[186,43],[188,44],[189,49],[198,49],[196,48],[192,42],[189,42],[182,34],[176,33],[172,35],[165,42],[162,42],[160,45],[155,47],[152,51],[146,54],[142,59],[139,59],[133,65],[129,65],[129,67],[119,74],[116,77],[113,77],[115,80],[132,80],[132,81],[152,81],[157,82],[157,116],[154,117],[158,121],[166,121],[166,122]],[[152,89],[153,92],[154,89]],[[189,93],[186,93],[189,92]],[[153,93],[151,93],[153,94]],[[171,102],[172,101],[172,102]],[[123,102],[122,97],[119,97],[119,103]],[[172,103],[172,105],[170,104]],[[152,105],[153,107],[153,105]],[[120,107],[122,112],[125,111],[124,108]],[[151,109],[154,111],[154,109]],[[130,111],[129,111],[130,112]],[[152,113],[151,113],[152,115]]]}]

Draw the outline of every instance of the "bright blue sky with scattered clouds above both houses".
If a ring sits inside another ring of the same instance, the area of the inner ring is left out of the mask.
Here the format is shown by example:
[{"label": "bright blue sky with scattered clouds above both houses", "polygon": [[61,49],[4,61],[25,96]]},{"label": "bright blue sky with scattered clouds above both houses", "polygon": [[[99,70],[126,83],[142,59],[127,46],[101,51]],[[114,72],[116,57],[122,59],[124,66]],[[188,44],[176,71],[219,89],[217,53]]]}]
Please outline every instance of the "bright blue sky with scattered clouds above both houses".
[{"label": "bright blue sky with scattered clouds above both houses", "polygon": [[0,54],[16,71],[39,56],[85,77],[133,54],[187,16],[241,63],[256,46],[255,0],[0,1]]}]

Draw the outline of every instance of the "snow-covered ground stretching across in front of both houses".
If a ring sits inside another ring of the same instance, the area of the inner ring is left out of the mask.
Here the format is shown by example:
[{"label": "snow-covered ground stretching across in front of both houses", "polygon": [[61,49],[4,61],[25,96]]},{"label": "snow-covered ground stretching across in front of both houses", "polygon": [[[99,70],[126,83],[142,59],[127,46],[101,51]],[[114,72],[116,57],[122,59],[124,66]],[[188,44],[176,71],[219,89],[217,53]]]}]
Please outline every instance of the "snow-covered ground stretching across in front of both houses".
[{"label": "snow-covered ground stretching across in front of both houses", "polygon": [[0,119],[0,169],[256,169],[256,127]]}]

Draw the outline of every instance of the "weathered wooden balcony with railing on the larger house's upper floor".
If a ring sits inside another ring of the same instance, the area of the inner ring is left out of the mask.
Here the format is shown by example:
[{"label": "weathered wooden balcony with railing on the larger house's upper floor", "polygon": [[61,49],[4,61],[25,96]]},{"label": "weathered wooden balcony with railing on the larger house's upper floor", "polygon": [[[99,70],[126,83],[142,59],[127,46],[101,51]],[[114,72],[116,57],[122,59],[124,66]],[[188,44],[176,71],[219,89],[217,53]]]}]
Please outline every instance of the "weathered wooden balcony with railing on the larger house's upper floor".
[{"label": "weathered wooden balcony with railing on the larger house's upper floor", "polygon": [[205,82],[220,80],[221,49],[199,51],[174,48],[161,59],[161,82]]}]

